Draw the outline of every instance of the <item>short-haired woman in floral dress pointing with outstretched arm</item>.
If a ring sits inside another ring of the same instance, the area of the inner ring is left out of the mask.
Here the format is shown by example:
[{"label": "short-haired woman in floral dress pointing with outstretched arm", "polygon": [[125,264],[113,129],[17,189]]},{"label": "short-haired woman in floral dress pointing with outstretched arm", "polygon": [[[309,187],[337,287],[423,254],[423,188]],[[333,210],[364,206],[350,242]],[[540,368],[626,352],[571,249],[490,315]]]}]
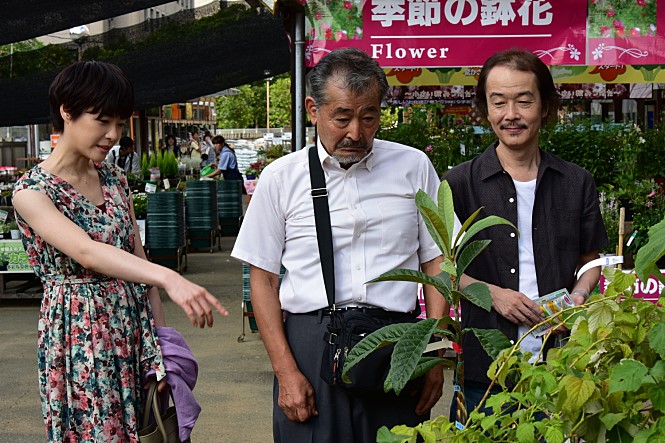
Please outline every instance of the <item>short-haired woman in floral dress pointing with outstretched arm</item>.
[{"label": "short-haired woman in floral dress pointing with outstretched arm", "polygon": [[65,68],[49,89],[53,153],[21,177],[14,208],[44,298],[38,364],[49,441],[136,442],[142,377],[166,389],[156,327],[157,287],[194,325],[227,315],[204,288],[145,259],[123,172],[103,162],[133,110],[122,71],[100,62]]}]

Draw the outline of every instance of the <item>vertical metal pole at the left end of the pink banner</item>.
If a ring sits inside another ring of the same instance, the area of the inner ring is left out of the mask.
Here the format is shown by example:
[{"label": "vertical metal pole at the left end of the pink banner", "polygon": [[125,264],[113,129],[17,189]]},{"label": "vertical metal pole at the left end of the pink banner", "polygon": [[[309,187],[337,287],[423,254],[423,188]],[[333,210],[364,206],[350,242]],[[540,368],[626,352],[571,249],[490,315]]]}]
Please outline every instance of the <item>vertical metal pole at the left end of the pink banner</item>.
[{"label": "vertical metal pole at the left end of the pink banner", "polygon": [[305,139],[305,12],[295,13],[295,89],[294,89],[294,127],[293,149],[302,149],[307,144]]}]

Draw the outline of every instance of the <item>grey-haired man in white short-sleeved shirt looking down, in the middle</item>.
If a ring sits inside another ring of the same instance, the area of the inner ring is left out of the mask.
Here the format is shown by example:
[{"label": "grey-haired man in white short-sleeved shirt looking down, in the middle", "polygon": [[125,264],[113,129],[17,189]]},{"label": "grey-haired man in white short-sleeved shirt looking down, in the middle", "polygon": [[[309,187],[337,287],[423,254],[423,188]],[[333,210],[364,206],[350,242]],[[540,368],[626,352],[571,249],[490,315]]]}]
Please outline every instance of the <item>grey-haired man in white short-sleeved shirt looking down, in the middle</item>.
[{"label": "grey-haired man in white short-sleeved shirt looking down, in the middle", "polygon": [[[413,320],[417,284],[365,282],[395,268],[441,272],[441,252],[415,203],[419,189],[436,198],[436,171],[422,151],[374,138],[388,82],[366,53],[332,51],[308,82],[305,109],[318,134],[310,149],[327,182],[336,307],[394,323]],[[319,251],[312,247],[312,200],[308,150],[276,159],[261,173],[231,253],[250,265],[254,315],[275,372],[273,437],[289,443],[376,441],[381,426],[415,426],[429,418],[442,395],[443,370],[433,368],[399,397],[351,395],[320,377],[330,310]],[[286,273],[280,285],[281,265]],[[442,317],[441,294],[426,287],[425,299],[427,314]]]}]

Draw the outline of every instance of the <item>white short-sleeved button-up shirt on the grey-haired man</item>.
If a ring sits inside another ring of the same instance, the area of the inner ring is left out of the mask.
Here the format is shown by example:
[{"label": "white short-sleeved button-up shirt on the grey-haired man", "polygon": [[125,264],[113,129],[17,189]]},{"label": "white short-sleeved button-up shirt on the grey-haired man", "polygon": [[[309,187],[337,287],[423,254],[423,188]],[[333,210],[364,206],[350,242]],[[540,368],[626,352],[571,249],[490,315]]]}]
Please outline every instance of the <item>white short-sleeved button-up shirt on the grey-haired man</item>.
[{"label": "white short-sleeved button-up shirt on the grey-haired man", "polygon": [[[423,189],[436,201],[439,178],[427,156],[374,140],[370,154],[342,169],[317,143],[328,188],[338,306],[412,311],[417,284],[365,283],[396,268],[419,269],[441,252],[415,204]],[[328,306],[316,240],[307,149],[271,163],[258,181],[231,255],[274,274],[283,264],[282,309]]]}]

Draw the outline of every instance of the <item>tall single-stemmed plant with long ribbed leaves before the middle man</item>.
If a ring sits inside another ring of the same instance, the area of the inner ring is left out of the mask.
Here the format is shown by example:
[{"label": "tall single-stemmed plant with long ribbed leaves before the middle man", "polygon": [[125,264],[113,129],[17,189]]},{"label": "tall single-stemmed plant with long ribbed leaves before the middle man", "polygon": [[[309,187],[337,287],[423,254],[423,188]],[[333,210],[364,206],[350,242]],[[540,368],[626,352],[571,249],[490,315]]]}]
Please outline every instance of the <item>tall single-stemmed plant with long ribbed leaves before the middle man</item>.
[{"label": "tall single-stemmed plant with long ribbed leaves before the middle man", "polygon": [[[478,232],[500,224],[515,227],[507,220],[497,216],[489,216],[476,221],[482,209],[480,208],[463,223],[460,231],[454,236],[455,210],[452,191],[447,181],[441,183],[437,200],[438,205],[422,190],[419,190],[416,194],[416,206],[443,255],[442,272],[432,277],[420,271],[396,269],[381,275],[370,283],[400,280],[432,285],[454,307],[454,318],[446,315],[440,319],[430,318],[417,323],[395,324],[368,335],[353,347],[347,356],[342,374],[342,378],[346,377],[346,381],[348,381],[348,371],[360,360],[376,349],[395,343],[390,371],[384,385],[386,392],[394,390],[395,393],[399,394],[409,380],[423,375],[439,364],[455,369],[458,381],[463,386],[463,354],[458,354],[457,365],[450,360],[423,356],[423,351],[430,342],[432,335],[438,334],[447,337],[453,343],[462,343],[463,335],[473,332],[479,338],[485,350],[492,356],[495,356],[501,349],[510,346],[508,339],[499,331],[462,329],[460,322],[461,299],[464,298],[489,312],[492,307],[492,298],[489,288],[484,283],[472,283],[461,289],[459,281],[467,266],[491,242],[490,240],[472,240]],[[458,395],[460,396],[458,400],[463,406],[465,403],[463,390],[458,392]],[[464,417],[465,410],[463,407],[461,413]]]}]

